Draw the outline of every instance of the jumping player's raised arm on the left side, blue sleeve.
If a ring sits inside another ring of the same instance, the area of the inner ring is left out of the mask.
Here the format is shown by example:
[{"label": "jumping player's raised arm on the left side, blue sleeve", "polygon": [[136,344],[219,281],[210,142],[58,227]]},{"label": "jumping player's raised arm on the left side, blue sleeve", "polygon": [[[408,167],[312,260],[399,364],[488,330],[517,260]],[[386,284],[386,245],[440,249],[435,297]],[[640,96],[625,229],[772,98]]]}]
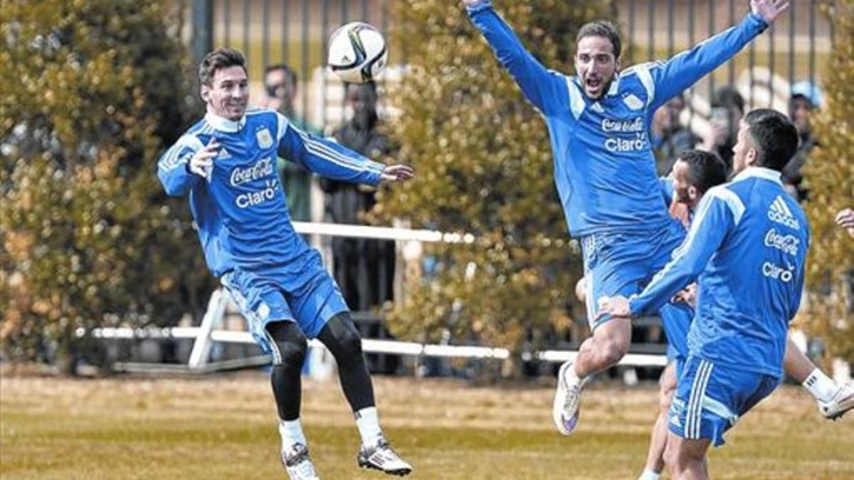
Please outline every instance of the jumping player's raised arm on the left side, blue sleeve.
[{"label": "jumping player's raised arm on the left side, blue sleeve", "polygon": [[566,108],[566,80],[550,72],[519,41],[488,0],[463,0],[472,23],[483,33],[501,65],[510,72],[524,96],[543,114]]}]

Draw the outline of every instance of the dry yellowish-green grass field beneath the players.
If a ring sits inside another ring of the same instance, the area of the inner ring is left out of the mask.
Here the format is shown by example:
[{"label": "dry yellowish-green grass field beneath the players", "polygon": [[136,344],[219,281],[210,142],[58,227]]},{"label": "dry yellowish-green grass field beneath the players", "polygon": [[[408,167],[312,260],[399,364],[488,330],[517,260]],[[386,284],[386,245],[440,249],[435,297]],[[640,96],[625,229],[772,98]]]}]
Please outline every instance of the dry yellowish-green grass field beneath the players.
[{"label": "dry yellowish-green grass field beneath the players", "polygon": [[[655,416],[654,385],[594,383],[579,430],[551,426],[546,386],[475,388],[453,380],[377,378],[380,419],[413,478],[633,478]],[[352,417],[336,382],[306,381],[303,424],[325,478],[360,471]],[[0,383],[0,478],[17,480],[283,478],[268,378]],[[806,395],[779,389],[711,453],[715,478],[854,478],[854,416],[820,418]]]}]

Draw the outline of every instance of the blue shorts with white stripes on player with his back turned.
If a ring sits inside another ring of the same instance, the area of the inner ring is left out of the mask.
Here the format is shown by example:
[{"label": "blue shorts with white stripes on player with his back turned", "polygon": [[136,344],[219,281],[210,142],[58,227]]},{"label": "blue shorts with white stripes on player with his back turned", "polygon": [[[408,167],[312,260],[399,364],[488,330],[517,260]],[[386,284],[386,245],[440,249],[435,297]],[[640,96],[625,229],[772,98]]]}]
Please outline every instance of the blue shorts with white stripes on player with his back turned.
[{"label": "blue shorts with white stripes on player with his back turned", "polygon": [[682,438],[708,438],[716,447],[736,421],[770,395],[779,378],[715,365],[689,356],[676,380],[667,415],[670,431]]}]

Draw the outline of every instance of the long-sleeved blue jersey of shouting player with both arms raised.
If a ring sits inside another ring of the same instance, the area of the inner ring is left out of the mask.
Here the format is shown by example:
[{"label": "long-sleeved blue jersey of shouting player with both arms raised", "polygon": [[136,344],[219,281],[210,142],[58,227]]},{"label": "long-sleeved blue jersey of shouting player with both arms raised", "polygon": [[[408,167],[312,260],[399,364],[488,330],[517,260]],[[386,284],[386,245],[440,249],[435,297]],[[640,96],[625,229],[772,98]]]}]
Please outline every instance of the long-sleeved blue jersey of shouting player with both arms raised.
[{"label": "long-sleeved blue jersey of shouting player with both arms raised", "polygon": [[576,76],[547,70],[519,42],[489,2],[469,10],[500,63],[546,118],[554,180],[570,234],[653,231],[670,218],[648,133],[655,110],[734,56],[767,28],[757,15],[669,61],[635,65],[591,100]]}]

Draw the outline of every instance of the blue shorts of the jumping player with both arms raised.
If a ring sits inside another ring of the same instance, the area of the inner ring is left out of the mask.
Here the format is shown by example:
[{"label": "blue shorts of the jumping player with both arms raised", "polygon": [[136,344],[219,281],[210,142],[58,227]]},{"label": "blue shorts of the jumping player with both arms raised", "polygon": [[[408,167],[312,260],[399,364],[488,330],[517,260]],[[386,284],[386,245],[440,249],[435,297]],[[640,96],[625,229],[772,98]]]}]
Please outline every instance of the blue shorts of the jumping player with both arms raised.
[{"label": "blue shorts of the jumping player with both arms raised", "polygon": [[582,237],[584,275],[587,277],[587,314],[590,330],[611,319],[595,321],[603,296],[629,298],[664,268],[685,237],[677,222],[652,232],[602,232]]}]

